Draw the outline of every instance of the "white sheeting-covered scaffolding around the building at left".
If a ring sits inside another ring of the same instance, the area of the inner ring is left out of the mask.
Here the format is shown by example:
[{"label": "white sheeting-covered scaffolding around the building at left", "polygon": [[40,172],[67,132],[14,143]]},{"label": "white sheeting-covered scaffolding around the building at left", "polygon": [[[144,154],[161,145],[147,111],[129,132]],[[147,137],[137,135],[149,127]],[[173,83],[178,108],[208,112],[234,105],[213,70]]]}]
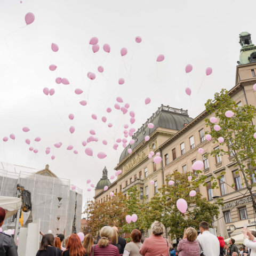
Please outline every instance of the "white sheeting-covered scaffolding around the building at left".
[{"label": "white sheeting-covered scaffolding around the building at left", "polygon": [[[41,220],[41,230],[53,235],[70,235],[75,230],[80,231],[82,214],[82,189],[71,189],[70,180],[60,179],[36,173],[20,171],[14,173],[0,169],[0,195],[14,196],[17,184],[25,187],[31,193],[33,220]],[[5,221],[5,226],[10,223]],[[3,226],[3,230],[5,228]]]}]

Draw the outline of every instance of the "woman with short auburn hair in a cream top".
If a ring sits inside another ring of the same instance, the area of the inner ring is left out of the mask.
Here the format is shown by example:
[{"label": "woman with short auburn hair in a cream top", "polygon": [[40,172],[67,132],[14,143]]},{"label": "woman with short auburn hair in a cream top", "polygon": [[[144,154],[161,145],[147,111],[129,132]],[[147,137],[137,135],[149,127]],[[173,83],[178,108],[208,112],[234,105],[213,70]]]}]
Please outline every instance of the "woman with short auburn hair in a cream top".
[{"label": "woman with short auburn hair in a cream top", "polygon": [[132,241],[127,243],[124,247],[123,256],[140,256],[141,243],[141,231],[139,229],[133,229],[131,233]]}]

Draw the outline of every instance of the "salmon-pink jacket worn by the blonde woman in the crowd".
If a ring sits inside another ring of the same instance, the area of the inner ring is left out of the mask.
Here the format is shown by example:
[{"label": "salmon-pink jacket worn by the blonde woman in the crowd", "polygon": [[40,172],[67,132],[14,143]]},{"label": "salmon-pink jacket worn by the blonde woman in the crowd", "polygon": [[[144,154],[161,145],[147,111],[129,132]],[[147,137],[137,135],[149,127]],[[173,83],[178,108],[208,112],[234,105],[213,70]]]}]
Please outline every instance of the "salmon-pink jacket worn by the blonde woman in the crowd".
[{"label": "salmon-pink jacket worn by the blonde woman in the crowd", "polygon": [[140,249],[140,254],[143,256],[168,256],[170,244],[161,235],[151,235],[147,238]]}]

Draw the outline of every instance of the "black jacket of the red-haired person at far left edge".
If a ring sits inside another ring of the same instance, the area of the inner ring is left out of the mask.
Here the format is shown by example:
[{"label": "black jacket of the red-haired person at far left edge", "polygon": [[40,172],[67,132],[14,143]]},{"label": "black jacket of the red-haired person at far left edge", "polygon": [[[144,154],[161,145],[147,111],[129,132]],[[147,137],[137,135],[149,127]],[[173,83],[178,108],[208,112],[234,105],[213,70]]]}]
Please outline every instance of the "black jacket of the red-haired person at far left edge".
[{"label": "black jacket of the red-haired person at far left edge", "polygon": [[17,247],[11,236],[0,233],[0,255],[18,256]]}]

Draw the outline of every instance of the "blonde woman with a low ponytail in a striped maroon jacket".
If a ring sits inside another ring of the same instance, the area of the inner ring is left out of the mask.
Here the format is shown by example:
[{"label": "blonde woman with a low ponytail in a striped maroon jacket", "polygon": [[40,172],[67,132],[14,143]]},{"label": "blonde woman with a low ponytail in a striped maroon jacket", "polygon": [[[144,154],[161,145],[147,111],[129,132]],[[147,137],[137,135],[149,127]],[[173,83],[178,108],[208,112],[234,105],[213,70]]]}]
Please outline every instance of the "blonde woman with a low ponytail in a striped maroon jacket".
[{"label": "blonde woman with a low ponytail in a striped maroon jacket", "polygon": [[119,256],[116,246],[111,244],[110,239],[114,236],[114,229],[110,226],[104,226],[100,230],[100,239],[98,244],[91,247],[90,256]]}]

